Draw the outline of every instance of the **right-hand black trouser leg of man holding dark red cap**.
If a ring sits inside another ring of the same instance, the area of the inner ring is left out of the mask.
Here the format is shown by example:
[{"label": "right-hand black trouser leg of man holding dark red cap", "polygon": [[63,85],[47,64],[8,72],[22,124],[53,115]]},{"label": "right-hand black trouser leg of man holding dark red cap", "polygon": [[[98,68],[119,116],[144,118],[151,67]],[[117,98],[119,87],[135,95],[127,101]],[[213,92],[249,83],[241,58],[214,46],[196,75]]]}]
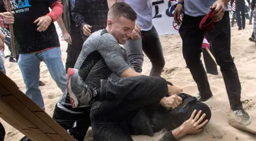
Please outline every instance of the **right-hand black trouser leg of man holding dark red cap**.
[{"label": "right-hand black trouser leg of man holding dark red cap", "polygon": [[214,33],[210,35],[207,34],[207,36],[210,39],[210,42],[212,42],[216,62],[221,67],[221,73],[223,74],[223,79],[225,81],[231,109],[241,109],[241,85],[236,65],[234,64],[230,53],[231,33],[229,15],[227,12],[225,12],[223,19],[216,25]]}]

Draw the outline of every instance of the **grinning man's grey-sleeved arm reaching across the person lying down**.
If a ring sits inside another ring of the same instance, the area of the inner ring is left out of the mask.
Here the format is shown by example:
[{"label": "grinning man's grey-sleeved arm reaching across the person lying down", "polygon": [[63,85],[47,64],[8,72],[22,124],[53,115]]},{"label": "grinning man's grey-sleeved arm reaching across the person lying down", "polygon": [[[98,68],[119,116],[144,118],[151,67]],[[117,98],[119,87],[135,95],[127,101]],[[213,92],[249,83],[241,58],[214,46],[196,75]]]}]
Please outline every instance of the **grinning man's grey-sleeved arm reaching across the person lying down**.
[{"label": "grinning man's grey-sleeved arm reaching across the person lying down", "polygon": [[98,42],[98,52],[109,69],[118,77],[134,77],[141,75],[134,71],[124,59],[124,54],[113,35],[106,33]]}]

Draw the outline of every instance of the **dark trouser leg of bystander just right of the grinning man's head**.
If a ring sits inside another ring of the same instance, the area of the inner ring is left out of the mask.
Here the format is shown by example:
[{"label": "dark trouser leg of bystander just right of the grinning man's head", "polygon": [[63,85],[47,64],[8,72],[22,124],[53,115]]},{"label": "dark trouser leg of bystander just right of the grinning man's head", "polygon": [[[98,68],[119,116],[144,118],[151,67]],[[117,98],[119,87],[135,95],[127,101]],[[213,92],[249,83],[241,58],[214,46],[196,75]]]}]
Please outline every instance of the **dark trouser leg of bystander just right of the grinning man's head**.
[{"label": "dark trouser leg of bystander just right of the grinning man's head", "polygon": [[160,77],[165,67],[165,58],[156,28],[153,26],[150,31],[142,31],[141,35],[143,51],[152,62],[150,76]]}]

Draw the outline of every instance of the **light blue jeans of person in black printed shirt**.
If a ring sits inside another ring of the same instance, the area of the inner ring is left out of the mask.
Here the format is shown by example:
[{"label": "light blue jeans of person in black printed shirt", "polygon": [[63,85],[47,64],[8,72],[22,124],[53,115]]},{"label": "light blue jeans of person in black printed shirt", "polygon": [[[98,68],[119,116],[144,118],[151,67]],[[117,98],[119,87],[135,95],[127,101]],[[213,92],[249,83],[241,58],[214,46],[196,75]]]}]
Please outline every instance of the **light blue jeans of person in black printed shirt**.
[{"label": "light blue jeans of person in black printed shirt", "polygon": [[61,50],[59,47],[48,49],[40,53],[20,54],[18,66],[20,67],[26,85],[25,94],[44,109],[44,100],[38,87],[41,60],[47,65],[51,77],[57,83],[61,92],[65,92],[67,76],[61,61]]}]

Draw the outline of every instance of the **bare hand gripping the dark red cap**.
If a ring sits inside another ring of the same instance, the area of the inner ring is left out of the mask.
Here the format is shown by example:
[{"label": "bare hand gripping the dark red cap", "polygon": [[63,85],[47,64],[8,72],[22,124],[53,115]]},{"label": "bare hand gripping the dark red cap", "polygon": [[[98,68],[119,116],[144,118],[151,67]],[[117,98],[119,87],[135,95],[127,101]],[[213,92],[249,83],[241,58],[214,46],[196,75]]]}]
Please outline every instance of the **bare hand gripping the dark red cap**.
[{"label": "bare hand gripping the dark red cap", "polygon": [[[222,0],[217,0],[212,7],[215,7],[214,13],[215,13],[215,17],[214,17],[214,22],[218,22],[220,21],[223,16],[224,16],[224,12],[225,12],[225,3]],[[211,7],[211,8],[212,8]]]}]

